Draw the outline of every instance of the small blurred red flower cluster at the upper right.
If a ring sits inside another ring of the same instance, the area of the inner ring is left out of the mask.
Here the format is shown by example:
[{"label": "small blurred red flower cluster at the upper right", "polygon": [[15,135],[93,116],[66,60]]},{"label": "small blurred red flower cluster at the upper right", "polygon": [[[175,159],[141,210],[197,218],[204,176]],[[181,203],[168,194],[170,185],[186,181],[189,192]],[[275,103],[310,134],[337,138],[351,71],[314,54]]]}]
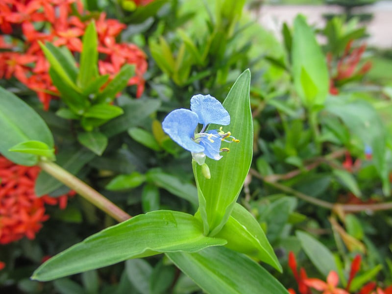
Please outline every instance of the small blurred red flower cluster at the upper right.
[{"label": "small blurred red flower cluster at the upper right", "polygon": [[329,81],[329,93],[332,95],[339,94],[339,85],[344,84],[344,82],[349,80],[362,77],[371,68],[371,62],[368,61],[365,62],[365,64],[359,70],[357,70],[357,66],[361,61],[362,54],[366,50],[366,44],[363,44],[361,47],[353,49],[350,52],[352,43],[352,40],[347,43],[343,56],[338,60],[335,73],[331,73],[333,59],[332,54],[327,54],[327,63],[331,76]]}]

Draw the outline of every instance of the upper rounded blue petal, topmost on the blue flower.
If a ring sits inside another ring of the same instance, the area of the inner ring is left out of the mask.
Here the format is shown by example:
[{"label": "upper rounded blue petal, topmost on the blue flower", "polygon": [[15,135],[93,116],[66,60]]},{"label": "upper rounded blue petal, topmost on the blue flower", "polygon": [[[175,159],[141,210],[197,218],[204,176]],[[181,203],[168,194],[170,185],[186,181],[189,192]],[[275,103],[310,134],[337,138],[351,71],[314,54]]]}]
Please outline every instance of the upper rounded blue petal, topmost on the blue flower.
[{"label": "upper rounded blue petal, topmost on the blue flower", "polygon": [[191,98],[191,110],[199,117],[199,123],[207,125],[216,123],[228,125],[230,123],[230,115],[223,108],[221,102],[210,95],[195,95]]}]

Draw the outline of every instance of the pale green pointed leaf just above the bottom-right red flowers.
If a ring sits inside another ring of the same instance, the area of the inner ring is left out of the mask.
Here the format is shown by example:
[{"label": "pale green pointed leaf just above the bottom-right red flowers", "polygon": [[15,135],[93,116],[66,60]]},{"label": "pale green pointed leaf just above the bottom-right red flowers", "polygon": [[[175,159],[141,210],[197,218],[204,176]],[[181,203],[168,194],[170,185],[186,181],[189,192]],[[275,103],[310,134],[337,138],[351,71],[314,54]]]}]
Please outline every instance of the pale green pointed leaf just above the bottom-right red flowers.
[{"label": "pale green pointed leaf just above the bottom-right red flowers", "polygon": [[331,270],[338,272],[335,258],[325,245],[313,238],[308,233],[296,231],[295,234],[301,242],[302,248],[306,255],[320,273],[326,277]]}]

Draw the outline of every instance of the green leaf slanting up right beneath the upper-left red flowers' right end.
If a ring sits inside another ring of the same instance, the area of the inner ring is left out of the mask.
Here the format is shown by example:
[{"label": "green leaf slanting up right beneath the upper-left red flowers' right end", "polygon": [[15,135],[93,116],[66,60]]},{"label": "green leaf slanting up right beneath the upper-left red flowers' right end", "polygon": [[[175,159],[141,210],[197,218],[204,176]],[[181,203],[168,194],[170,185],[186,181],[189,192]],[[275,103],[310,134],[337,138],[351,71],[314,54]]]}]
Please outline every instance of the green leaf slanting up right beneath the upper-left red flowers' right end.
[{"label": "green leaf slanting up right beneath the upper-left red flowers' right end", "polygon": [[129,79],[135,75],[135,66],[126,64],[120,72],[106,85],[105,89],[97,96],[97,102],[108,103],[116,98],[117,93],[123,91],[128,84]]}]

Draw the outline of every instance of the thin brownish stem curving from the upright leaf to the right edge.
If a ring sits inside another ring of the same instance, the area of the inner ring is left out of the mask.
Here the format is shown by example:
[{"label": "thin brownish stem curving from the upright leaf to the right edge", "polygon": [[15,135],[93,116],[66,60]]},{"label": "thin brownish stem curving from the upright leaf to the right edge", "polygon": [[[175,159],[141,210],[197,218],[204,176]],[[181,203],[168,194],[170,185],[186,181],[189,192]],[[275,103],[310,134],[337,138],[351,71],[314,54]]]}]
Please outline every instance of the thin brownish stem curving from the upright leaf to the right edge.
[{"label": "thin brownish stem curving from the upright leaf to the right edge", "polygon": [[315,204],[317,206],[330,209],[330,210],[336,210],[340,209],[343,210],[344,212],[361,212],[361,211],[377,211],[377,210],[389,210],[392,209],[392,201],[390,202],[383,202],[383,203],[372,203],[372,204],[342,204],[342,203],[331,203],[327,202],[324,200],[317,199],[312,196],[308,196],[306,194],[303,194],[299,191],[294,190],[293,188],[287,187],[285,185],[273,182],[273,181],[267,181],[260,173],[257,171],[250,169],[249,173],[261,180],[263,180],[266,184],[279,189],[283,192],[286,192],[288,194],[291,194],[293,196],[296,196],[299,199],[305,200],[309,203]]}]

